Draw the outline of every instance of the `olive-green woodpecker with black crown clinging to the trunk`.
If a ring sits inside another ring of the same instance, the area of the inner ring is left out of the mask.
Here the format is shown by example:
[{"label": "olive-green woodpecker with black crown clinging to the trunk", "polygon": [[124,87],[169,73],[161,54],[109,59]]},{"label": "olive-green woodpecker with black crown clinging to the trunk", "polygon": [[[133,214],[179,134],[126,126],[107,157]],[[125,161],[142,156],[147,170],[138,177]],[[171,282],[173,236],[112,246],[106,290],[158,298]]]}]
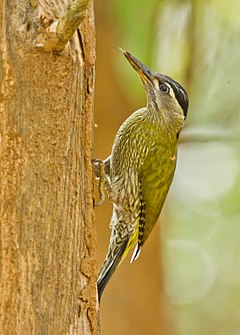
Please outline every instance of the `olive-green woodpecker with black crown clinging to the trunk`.
[{"label": "olive-green woodpecker with black crown clinging to the trunk", "polygon": [[134,246],[131,261],[137,259],[159,217],[172,183],[178,136],[188,110],[188,96],[179,83],[151,71],[129,52],[123,54],[141,78],[147,107],[122,124],[111,155],[94,161],[113,203],[110,244],[97,281],[99,301],[113,272]]}]

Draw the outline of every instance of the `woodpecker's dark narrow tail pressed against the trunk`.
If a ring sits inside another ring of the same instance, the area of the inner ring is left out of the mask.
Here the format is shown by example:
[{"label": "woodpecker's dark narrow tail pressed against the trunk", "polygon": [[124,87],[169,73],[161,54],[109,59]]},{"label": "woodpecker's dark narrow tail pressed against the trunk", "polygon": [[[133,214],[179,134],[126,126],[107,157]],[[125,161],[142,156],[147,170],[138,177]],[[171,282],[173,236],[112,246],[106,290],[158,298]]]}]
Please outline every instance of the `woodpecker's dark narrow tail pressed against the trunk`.
[{"label": "woodpecker's dark narrow tail pressed against the trunk", "polygon": [[99,271],[97,286],[98,286],[98,301],[100,303],[102,293],[114,271],[123,259],[124,252],[127,248],[129,239],[126,239],[121,245],[116,246],[114,252],[109,250],[108,255]]}]

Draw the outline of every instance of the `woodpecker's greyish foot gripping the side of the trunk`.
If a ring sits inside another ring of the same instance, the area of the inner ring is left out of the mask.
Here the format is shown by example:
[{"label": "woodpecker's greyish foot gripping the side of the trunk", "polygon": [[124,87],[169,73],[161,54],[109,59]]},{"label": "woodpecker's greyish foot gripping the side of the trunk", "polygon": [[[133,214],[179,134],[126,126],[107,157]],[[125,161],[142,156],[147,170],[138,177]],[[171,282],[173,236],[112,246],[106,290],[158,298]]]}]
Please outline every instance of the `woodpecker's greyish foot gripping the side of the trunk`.
[{"label": "woodpecker's greyish foot gripping the side of the trunk", "polygon": [[110,191],[110,184],[109,184],[109,180],[106,174],[106,165],[105,165],[105,161],[102,161],[101,159],[93,159],[92,164],[93,164],[95,176],[97,179],[99,179],[98,192],[99,192],[99,197],[100,197],[100,200],[94,205],[101,206],[105,201],[104,190],[107,189],[108,194]]}]

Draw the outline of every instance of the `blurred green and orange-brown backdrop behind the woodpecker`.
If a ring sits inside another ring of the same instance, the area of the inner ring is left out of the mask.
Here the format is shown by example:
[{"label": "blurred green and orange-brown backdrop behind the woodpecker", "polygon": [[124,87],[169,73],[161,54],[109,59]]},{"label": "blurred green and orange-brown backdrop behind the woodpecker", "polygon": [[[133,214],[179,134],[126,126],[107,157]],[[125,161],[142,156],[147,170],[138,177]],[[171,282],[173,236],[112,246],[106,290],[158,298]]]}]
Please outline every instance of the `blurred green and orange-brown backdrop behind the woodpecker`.
[{"label": "blurred green and orange-brown backdrop behind the woodpecker", "polygon": [[[145,106],[118,47],[189,93],[178,166],[160,224],[141,257],[104,292],[104,334],[240,335],[240,2],[96,1],[95,152]],[[96,209],[99,267],[111,204]]]}]

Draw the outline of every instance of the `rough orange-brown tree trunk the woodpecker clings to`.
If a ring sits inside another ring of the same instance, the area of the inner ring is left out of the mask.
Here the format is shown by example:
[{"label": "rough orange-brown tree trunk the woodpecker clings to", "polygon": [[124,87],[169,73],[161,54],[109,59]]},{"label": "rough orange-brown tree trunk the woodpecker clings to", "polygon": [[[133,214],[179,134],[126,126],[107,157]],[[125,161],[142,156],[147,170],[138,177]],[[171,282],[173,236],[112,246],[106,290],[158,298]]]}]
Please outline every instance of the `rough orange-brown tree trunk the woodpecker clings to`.
[{"label": "rough orange-brown tree trunk the woodpecker clings to", "polygon": [[0,2],[2,335],[98,333],[92,2],[62,53],[35,43],[67,5]]}]

